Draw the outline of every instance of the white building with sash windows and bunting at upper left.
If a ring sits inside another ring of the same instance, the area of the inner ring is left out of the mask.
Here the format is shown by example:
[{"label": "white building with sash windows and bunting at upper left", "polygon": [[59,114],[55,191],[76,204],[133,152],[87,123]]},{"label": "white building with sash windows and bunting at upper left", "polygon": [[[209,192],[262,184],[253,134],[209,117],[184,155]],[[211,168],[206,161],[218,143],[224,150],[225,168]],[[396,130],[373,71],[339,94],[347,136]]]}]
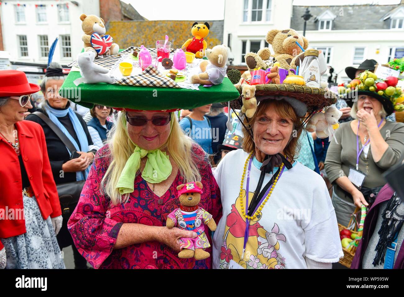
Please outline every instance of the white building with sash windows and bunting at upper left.
[{"label": "white building with sash windows and bunting at upper left", "polygon": [[67,65],[83,47],[80,15],[99,15],[99,1],[2,1],[4,51],[21,63],[48,63],[50,46],[59,38],[53,61]]}]

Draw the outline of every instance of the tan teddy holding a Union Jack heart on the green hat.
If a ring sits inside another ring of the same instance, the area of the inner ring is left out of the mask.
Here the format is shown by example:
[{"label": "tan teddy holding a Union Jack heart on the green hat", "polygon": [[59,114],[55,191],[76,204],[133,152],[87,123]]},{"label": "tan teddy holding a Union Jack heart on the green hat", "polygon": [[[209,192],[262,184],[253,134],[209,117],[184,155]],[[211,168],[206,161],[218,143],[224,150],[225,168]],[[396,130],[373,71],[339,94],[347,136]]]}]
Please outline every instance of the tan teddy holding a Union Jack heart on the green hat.
[{"label": "tan teddy holding a Union Jack heart on the green hat", "polygon": [[[96,55],[116,55],[119,45],[112,43],[112,37],[105,35],[105,22],[96,15],[80,15],[84,35],[84,51],[93,51]],[[93,35],[94,34],[94,35]]]}]

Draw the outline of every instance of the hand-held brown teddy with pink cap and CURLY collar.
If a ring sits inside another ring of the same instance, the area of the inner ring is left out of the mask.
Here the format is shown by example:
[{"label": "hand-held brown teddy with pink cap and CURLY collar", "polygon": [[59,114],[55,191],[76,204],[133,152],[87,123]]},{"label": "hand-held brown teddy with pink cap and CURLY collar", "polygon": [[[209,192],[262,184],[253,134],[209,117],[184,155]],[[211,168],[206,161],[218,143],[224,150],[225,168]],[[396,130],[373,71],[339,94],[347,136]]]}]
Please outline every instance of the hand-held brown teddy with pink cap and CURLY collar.
[{"label": "hand-held brown teddy with pink cap and CURLY collar", "polygon": [[206,259],[210,256],[205,251],[210,247],[205,233],[205,225],[211,231],[216,230],[216,223],[212,215],[198,206],[201,200],[203,185],[201,182],[190,182],[177,187],[180,207],[171,212],[166,221],[166,226],[172,228],[178,226],[181,230],[194,231],[196,238],[180,238],[179,258],[194,257],[196,260]]}]

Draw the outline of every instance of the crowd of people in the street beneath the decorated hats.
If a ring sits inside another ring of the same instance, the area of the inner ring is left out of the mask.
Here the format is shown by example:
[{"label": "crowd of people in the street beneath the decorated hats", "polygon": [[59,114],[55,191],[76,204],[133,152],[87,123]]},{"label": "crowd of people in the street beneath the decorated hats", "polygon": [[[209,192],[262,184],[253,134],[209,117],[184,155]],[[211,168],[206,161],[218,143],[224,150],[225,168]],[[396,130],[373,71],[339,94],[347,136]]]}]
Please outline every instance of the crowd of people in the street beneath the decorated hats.
[{"label": "crowd of people in the street beneath the decorated hats", "polygon": [[[373,61],[347,75],[373,71]],[[72,246],[76,269],[326,269],[343,257],[338,223],[348,227],[362,204],[372,219],[352,268],[386,268],[387,256],[403,268],[404,204],[383,178],[404,156],[391,102],[360,92],[355,102],[338,99],[331,141],[306,131],[296,94],[262,101],[246,118],[220,103],[87,109],[59,95],[63,81],[58,63],[40,86],[0,71],[0,207],[16,214],[0,219],[0,268],[65,268],[61,249]],[[178,257],[180,238],[206,240],[194,225],[166,227],[177,186],[192,181],[217,223],[206,233],[211,256],[200,260]]]}]

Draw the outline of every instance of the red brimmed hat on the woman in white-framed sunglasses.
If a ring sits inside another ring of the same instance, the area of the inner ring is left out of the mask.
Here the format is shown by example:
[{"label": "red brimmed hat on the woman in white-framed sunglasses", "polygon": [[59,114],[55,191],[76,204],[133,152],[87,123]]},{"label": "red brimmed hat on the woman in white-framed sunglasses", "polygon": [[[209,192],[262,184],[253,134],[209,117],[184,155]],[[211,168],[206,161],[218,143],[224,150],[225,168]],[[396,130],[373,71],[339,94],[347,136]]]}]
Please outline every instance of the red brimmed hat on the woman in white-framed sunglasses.
[{"label": "red brimmed hat on the woman in white-framed sunglasses", "polygon": [[37,84],[30,84],[22,71],[0,70],[0,97],[28,95],[40,89]]}]

